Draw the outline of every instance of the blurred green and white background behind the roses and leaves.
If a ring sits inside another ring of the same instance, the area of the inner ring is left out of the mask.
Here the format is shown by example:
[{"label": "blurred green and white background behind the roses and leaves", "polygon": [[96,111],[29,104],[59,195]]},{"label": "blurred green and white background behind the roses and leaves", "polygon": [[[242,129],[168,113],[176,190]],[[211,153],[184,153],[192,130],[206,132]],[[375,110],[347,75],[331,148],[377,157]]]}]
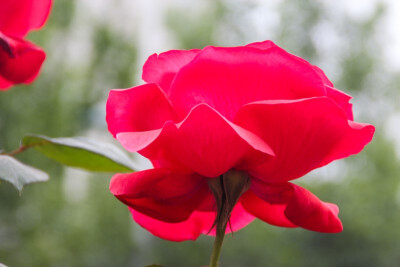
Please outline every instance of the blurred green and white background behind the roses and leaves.
[{"label": "blurred green and white background behind the roses and leaves", "polygon": [[[17,148],[27,133],[114,142],[105,123],[108,91],[141,84],[152,53],[271,39],[353,95],[356,120],[373,123],[376,135],[359,155],[296,181],[339,205],[342,233],[256,220],[226,238],[222,266],[399,266],[399,28],[396,0],[55,0],[46,26],[29,36],[47,52],[41,75],[0,93],[0,148]],[[0,184],[0,262],[207,265],[213,238],[152,236],[110,194],[112,174],[64,168],[35,151],[18,158],[51,179],[21,196]]]}]

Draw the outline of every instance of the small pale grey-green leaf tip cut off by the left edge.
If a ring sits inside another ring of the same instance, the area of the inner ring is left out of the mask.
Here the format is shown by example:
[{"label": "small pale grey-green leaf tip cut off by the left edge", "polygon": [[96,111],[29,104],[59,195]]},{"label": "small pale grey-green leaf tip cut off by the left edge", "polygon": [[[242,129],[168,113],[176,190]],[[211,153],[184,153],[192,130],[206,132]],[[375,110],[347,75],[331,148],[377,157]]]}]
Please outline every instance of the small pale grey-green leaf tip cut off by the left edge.
[{"label": "small pale grey-green leaf tip cut off by the left edge", "polygon": [[47,173],[25,165],[10,156],[0,155],[0,179],[13,184],[21,193],[25,184],[44,182]]}]

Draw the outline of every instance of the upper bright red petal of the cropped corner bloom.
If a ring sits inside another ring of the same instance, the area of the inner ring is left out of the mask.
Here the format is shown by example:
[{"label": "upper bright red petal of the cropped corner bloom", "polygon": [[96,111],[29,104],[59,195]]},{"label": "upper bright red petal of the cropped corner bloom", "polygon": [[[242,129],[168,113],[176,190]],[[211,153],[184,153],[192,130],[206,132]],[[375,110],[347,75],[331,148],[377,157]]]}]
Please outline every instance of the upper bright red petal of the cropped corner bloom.
[{"label": "upper bright red petal of the cropped corner bloom", "polygon": [[24,37],[29,30],[40,28],[49,15],[51,0],[1,1],[0,31],[13,37]]}]

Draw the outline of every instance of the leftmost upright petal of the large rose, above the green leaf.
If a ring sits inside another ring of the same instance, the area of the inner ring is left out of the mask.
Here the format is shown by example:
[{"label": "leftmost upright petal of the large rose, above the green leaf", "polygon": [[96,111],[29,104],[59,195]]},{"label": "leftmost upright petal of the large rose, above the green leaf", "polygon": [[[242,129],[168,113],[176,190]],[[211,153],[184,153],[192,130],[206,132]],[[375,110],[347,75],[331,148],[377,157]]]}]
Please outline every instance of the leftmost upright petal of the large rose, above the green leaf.
[{"label": "leftmost upright petal of the large rose, above the green leaf", "polygon": [[108,130],[114,137],[123,132],[157,130],[175,119],[173,107],[156,84],[111,90],[106,110]]}]

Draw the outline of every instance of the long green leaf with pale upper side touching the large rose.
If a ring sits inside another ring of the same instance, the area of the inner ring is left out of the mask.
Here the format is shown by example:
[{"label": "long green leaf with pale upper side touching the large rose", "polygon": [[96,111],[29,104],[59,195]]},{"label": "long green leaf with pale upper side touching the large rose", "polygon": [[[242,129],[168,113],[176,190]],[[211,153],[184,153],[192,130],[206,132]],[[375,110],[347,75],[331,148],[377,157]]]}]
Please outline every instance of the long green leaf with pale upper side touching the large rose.
[{"label": "long green leaf with pale upper side touching the large rose", "polygon": [[84,137],[50,138],[27,135],[22,146],[33,147],[67,166],[98,172],[132,172],[133,161],[114,145]]}]

